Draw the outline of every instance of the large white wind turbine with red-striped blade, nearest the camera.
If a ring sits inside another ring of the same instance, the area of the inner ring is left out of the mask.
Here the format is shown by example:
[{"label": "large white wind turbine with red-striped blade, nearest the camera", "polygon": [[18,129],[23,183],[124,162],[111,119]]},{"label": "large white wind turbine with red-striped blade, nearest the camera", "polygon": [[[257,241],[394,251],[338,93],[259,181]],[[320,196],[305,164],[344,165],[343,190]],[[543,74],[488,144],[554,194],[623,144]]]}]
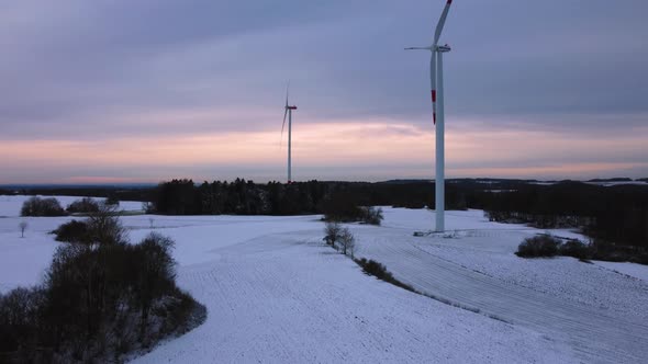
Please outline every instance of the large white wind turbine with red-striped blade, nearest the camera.
[{"label": "large white wind turbine with red-striped blade, nearest the camera", "polygon": [[[446,45],[438,45],[438,38],[444,30],[448,11],[453,0],[446,1],[446,7],[442,13],[442,18],[436,24],[434,32],[434,43],[429,47],[409,47],[410,49],[425,49],[432,52],[429,59],[429,83],[432,86],[432,111],[433,123],[436,126],[436,178],[435,178],[435,211],[436,211],[436,231],[445,230],[445,157],[444,157],[444,53],[450,52],[450,47]],[[438,92],[437,92],[438,91]]]}]

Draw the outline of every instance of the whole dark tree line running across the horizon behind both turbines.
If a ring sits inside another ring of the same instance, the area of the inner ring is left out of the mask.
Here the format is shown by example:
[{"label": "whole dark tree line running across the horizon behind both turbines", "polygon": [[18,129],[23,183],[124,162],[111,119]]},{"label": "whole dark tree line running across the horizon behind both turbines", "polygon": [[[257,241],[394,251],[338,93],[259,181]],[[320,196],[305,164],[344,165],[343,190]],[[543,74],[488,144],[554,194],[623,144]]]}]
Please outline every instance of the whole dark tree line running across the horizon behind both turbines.
[{"label": "whole dark tree line running across the horizon behind both turbines", "polygon": [[[71,195],[91,192],[100,196],[116,195],[120,200],[146,201],[149,213],[163,215],[325,214],[348,217],[360,216],[358,206],[434,208],[435,205],[434,182],[416,180],[258,184],[236,179],[197,184],[189,179],[177,179],[155,187],[57,192]],[[576,181],[545,185],[537,181],[501,179],[446,181],[446,209],[479,208],[492,220],[532,224],[539,228],[582,227],[593,239],[630,249],[648,246],[647,201],[648,185],[601,186]]]}]

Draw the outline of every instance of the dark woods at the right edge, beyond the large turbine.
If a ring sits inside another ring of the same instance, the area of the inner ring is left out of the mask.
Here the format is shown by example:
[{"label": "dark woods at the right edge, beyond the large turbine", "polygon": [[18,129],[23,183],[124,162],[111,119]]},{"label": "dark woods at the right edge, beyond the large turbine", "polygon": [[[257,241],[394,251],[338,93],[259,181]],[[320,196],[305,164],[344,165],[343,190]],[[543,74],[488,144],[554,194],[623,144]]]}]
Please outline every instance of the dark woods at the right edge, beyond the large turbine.
[{"label": "dark woods at the right edge, beyond the large turbine", "polygon": [[580,227],[605,249],[648,251],[648,186],[599,186],[581,182],[523,184],[474,196],[473,207],[494,221],[539,228]]}]

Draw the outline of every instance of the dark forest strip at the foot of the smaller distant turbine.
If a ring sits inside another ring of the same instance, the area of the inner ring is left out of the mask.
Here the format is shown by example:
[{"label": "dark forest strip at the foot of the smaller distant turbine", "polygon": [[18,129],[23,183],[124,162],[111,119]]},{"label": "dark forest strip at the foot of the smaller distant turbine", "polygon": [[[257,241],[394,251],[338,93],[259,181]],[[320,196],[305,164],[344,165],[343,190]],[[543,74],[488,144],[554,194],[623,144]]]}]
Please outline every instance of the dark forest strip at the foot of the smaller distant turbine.
[{"label": "dark forest strip at the foot of the smaller distant turbine", "polygon": [[[172,180],[160,183],[152,212],[168,215],[301,215],[357,206],[422,208],[434,204],[434,183],[293,182],[284,184],[236,179],[233,182]],[[453,185],[447,189],[449,208],[466,208],[466,200]]]}]

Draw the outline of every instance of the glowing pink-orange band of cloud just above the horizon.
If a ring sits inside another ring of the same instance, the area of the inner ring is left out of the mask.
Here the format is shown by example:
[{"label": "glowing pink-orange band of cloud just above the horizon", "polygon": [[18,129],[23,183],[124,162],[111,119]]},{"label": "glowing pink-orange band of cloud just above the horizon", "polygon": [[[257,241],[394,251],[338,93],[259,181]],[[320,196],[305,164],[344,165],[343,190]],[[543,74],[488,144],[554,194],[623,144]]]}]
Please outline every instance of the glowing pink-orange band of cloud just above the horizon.
[{"label": "glowing pink-orange band of cloud just above the horizon", "polygon": [[[303,118],[297,118],[293,128],[293,168],[301,180],[434,178],[432,127],[387,118],[332,123]],[[450,124],[447,133],[448,177],[585,178],[648,169],[636,158],[646,153],[643,128],[608,138],[458,125],[463,127]],[[25,169],[57,170],[59,177],[52,182],[67,183],[250,178],[246,174],[281,180],[286,148],[280,149],[279,139],[277,129],[101,141],[5,140],[0,155],[12,158],[0,161],[4,171],[0,183],[32,182],[20,180]],[[111,173],[101,173],[102,169]]]}]

